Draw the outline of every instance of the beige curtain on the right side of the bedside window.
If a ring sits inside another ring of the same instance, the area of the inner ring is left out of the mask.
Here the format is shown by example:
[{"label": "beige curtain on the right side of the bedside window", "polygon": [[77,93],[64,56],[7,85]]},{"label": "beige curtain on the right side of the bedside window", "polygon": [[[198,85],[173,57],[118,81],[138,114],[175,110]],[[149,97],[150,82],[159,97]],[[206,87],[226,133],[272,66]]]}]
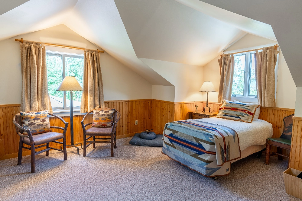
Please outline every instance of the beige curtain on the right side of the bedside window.
[{"label": "beige curtain on the right side of the bedside window", "polygon": [[276,107],[275,66],[279,51],[274,46],[255,50],[255,75],[259,104],[263,107]]}]

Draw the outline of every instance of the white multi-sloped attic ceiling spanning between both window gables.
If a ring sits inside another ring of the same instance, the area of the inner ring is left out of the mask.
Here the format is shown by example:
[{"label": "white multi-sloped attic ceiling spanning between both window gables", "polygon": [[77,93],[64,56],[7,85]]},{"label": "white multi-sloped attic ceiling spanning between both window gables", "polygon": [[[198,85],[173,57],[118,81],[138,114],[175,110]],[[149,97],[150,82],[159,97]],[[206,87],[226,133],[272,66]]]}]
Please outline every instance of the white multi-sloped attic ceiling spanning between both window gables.
[{"label": "white multi-sloped attic ceiling spanning between both window gables", "polygon": [[2,5],[7,12],[0,15],[0,40],[65,24],[152,85],[173,86],[138,58],[203,66],[246,33],[276,40],[269,24],[199,0],[18,0],[15,8]]}]

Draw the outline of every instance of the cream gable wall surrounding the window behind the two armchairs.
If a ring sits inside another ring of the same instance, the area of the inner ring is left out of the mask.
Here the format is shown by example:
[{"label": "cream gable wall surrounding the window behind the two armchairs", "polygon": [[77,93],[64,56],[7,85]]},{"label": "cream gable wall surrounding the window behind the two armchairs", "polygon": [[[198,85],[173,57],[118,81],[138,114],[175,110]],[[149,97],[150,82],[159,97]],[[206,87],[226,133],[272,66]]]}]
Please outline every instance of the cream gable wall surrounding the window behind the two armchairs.
[{"label": "cream gable wall surrounding the window behind the two armchairs", "polygon": [[[15,38],[100,49],[63,24],[0,41],[0,104],[21,102],[20,42],[15,42]],[[83,54],[75,49],[50,46],[46,49]],[[152,85],[107,53],[101,53],[101,70],[105,101],[152,98]]]}]

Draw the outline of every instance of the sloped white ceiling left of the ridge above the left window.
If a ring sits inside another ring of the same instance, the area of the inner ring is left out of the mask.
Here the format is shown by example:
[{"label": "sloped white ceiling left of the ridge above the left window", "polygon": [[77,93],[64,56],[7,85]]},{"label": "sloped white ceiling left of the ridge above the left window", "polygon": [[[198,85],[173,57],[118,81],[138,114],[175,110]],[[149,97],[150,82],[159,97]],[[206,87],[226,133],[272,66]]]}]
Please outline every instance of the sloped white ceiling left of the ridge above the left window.
[{"label": "sloped white ceiling left of the ridge above the left window", "polygon": [[77,0],[30,0],[0,15],[0,40],[63,24]]}]

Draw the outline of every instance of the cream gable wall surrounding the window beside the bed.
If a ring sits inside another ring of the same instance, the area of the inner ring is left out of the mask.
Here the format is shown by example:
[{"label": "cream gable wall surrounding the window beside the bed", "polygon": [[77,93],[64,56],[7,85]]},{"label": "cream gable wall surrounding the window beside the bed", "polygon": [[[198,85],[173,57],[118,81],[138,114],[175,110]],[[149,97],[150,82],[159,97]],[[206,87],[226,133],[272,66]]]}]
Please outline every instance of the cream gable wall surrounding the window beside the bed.
[{"label": "cream gable wall surrounding the window beside the bed", "polygon": [[[234,43],[228,49],[226,49],[225,53],[237,52],[240,50],[249,50],[255,49],[255,46],[271,46],[272,44],[276,44],[276,41],[261,38],[258,36],[254,36],[251,34],[247,34],[245,37]],[[215,59],[207,63],[204,69],[204,81],[212,81],[213,85],[219,90],[219,65],[218,59],[220,56],[217,56]],[[209,93],[209,101],[217,102],[218,92]],[[203,100],[206,100],[206,93],[203,94]],[[282,108],[295,108],[295,100],[296,100],[296,85],[291,76],[291,73],[288,69],[288,66],[285,62],[284,56],[280,50],[279,53],[279,61],[278,61],[278,82],[277,82],[277,93],[276,93],[276,107]]]}]

